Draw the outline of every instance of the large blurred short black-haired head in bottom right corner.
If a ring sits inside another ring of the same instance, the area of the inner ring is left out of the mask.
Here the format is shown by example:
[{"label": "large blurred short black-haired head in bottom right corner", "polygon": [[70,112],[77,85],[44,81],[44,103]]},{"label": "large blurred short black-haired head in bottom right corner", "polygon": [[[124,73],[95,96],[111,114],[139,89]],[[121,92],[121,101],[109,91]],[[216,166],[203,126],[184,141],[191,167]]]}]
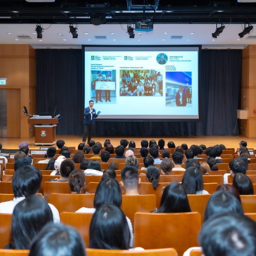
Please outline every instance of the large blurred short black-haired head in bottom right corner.
[{"label": "large blurred short black-haired head in bottom right corner", "polygon": [[199,243],[204,256],[251,256],[256,252],[256,223],[242,214],[217,214],[203,225]]}]

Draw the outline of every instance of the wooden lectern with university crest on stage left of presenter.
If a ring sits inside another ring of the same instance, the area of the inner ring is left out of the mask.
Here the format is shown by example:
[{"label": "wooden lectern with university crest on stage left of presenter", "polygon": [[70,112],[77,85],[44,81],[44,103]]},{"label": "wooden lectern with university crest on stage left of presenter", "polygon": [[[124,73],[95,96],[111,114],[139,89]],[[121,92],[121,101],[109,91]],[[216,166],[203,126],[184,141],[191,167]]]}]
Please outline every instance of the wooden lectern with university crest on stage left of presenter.
[{"label": "wooden lectern with university crest on stage left of presenter", "polygon": [[35,145],[53,145],[55,143],[55,127],[57,118],[29,118],[28,124],[35,126]]}]

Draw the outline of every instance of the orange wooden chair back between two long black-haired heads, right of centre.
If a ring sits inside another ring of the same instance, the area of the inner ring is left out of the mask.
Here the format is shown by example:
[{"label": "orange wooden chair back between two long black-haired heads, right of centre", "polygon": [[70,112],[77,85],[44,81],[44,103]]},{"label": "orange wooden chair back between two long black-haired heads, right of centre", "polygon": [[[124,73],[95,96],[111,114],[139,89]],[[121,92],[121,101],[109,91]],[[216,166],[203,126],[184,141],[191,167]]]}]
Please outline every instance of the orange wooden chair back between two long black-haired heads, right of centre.
[{"label": "orange wooden chair back between two long black-haired heads, right of centre", "polygon": [[208,203],[210,194],[208,195],[188,195],[188,202],[192,212],[199,212],[201,215],[201,223],[204,223],[204,211]]}]

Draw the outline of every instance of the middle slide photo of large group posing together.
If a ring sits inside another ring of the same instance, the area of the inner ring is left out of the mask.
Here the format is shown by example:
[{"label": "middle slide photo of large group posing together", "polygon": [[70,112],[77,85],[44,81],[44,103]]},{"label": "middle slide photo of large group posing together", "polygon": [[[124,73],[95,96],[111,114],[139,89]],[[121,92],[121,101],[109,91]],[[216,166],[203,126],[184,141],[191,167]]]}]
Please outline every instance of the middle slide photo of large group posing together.
[{"label": "middle slide photo of large group posing together", "polygon": [[163,96],[163,70],[120,69],[120,96]]}]

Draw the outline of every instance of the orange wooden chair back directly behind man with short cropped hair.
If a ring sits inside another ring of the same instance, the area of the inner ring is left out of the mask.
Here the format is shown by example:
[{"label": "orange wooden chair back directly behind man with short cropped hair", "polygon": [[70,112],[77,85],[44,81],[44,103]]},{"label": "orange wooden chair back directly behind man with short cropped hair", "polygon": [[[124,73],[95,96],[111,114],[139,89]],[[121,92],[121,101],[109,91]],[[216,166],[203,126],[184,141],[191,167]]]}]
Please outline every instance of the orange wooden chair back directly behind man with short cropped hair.
[{"label": "orange wooden chair back directly behind man with short cropped hair", "polygon": [[125,216],[132,222],[132,230],[134,230],[134,215],[136,212],[151,212],[156,209],[155,195],[122,195],[122,205]]}]

